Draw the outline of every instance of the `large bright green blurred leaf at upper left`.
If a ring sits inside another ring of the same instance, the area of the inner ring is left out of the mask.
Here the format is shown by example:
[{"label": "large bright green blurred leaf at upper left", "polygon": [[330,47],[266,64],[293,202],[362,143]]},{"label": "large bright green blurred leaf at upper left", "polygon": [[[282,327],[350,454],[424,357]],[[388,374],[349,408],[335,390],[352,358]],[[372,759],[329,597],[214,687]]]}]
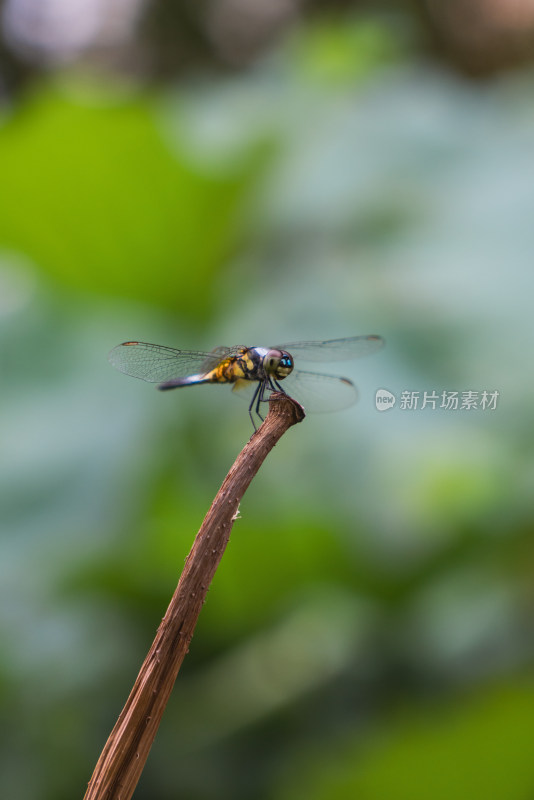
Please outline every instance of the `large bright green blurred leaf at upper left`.
[{"label": "large bright green blurred leaf at upper left", "polygon": [[0,247],[77,290],[204,317],[263,156],[202,169],[167,147],[152,99],[99,97],[41,89],[0,128]]}]

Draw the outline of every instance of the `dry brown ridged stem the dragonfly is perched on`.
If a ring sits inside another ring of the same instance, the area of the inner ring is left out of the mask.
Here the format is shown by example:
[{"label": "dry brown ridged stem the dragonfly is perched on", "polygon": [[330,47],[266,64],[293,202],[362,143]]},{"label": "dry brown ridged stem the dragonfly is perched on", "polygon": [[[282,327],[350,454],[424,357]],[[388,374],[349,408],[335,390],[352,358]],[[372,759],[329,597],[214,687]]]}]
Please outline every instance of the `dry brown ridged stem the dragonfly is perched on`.
[{"label": "dry brown ridged stem the dragonfly is perched on", "polygon": [[280,437],[304,418],[282,393],[238,455],[195,538],[176,591],[133,689],[98,759],[84,800],[129,800],[158,730],[200,610],[222,558],[239,503]]}]

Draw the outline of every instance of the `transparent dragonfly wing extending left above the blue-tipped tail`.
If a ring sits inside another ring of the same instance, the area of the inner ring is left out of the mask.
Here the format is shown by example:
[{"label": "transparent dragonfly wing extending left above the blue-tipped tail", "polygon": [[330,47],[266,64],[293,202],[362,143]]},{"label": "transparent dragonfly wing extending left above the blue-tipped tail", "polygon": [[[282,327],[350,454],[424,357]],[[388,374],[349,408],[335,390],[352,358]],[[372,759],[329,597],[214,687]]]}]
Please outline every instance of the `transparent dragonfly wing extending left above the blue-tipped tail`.
[{"label": "transparent dragonfly wing extending left above the blue-tipped tail", "polygon": [[113,366],[126,375],[151,383],[163,383],[174,378],[209,372],[237,347],[217,347],[211,353],[196,350],[175,350],[148,342],[124,342],[109,354]]}]

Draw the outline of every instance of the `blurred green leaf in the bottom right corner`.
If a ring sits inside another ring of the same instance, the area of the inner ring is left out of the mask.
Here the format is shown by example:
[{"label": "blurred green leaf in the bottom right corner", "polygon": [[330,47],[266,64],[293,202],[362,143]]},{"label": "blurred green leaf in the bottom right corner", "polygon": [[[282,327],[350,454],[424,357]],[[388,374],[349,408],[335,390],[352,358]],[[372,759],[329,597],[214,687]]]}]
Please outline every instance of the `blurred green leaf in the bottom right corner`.
[{"label": "blurred green leaf in the bottom right corner", "polygon": [[[510,685],[435,704],[419,714],[397,713],[317,768],[296,777],[278,795],[308,800],[528,800],[534,786],[534,691]],[[296,787],[299,787],[298,789]]]}]

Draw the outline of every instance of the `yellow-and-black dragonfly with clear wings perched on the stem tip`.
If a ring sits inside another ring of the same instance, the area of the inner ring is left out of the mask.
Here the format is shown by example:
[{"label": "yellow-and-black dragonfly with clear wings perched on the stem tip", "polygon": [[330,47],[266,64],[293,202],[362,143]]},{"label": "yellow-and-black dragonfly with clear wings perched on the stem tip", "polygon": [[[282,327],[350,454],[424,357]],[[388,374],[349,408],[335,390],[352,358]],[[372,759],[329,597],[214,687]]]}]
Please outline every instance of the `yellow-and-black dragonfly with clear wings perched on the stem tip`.
[{"label": "yellow-and-black dragonfly with clear wings perched on the stem tip", "polygon": [[374,353],[383,345],[381,336],[371,335],[273,347],[216,347],[207,353],[123,342],[113,348],[109,360],[120,372],[157,383],[162,391],[204,383],[233,384],[234,391],[250,396],[248,413],[256,428],[254,414],[264,419],[261,404],[272,392],[282,392],[312,412],[339,411],[358,400],[358,391],[348,378],[297,369],[295,361],[346,361]]}]

